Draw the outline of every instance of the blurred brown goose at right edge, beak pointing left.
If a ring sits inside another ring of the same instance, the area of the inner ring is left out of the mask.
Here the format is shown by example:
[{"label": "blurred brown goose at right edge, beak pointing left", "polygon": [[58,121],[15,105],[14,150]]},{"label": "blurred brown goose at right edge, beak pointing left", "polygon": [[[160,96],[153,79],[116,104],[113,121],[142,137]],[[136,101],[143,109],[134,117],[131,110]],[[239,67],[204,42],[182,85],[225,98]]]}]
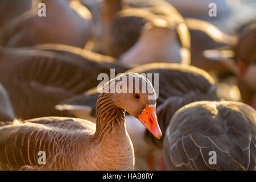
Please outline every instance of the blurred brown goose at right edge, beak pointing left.
[{"label": "blurred brown goose at right edge, beak pointing left", "polygon": [[204,56],[224,63],[238,78],[243,102],[256,108],[256,22],[243,26],[234,46],[206,50]]}]

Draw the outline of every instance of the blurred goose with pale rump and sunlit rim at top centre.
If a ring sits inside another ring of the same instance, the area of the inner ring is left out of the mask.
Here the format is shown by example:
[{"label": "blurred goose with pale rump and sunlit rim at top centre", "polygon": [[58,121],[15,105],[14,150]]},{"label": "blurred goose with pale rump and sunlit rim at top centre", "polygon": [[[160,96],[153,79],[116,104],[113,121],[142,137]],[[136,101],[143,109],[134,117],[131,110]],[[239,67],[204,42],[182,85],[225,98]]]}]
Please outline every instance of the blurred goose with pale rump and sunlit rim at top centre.
[{"label": "blurred goose with pale rump and sunlit rim at top centre", "polygon": [[189,31],[177,10],[164,1],[132,2],[135,7],[125,8],[121,0],[104,1],[105,53],[128,64],[189,64]]}]

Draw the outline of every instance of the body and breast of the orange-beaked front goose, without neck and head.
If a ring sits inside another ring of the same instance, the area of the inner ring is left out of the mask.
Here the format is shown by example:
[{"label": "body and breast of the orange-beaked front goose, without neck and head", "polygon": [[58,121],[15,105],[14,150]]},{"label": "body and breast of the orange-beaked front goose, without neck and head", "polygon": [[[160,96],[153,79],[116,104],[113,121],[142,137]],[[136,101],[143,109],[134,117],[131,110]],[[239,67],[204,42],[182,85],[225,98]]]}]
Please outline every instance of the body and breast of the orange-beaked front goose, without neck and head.
[{"label": "body and breast of the orange-beaked front goose, without neck and head", "polygon": [[[0,169],[132,170],[133,146],[124,126],[113,127],[100,144],[92,142],[95,131],[92,122],[63,117],[36,118],[1,127]],[[19,138],[23,138],[23,144],[19,143]],[[11,144],[12,140],[19,146]],[[120,142],[123,143],[122,150]],[[13,150],[16,152],[12,153]],[[46,164],[42,166],[38,164],[39,151],[46,152]]]}]

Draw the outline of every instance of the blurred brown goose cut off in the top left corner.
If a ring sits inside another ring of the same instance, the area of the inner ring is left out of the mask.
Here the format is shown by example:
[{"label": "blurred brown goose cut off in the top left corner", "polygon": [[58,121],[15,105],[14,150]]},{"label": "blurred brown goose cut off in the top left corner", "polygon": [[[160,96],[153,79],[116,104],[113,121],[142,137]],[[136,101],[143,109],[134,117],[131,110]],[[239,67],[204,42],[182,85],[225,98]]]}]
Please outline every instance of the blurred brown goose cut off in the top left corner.
[{"label": "blurred brown goose cut off in the top left corner", "polygon": [[0,1],[0,31],[2,28],[14,19],[16,16],[23,14],[31,9],[32,0],[1,0]]}]

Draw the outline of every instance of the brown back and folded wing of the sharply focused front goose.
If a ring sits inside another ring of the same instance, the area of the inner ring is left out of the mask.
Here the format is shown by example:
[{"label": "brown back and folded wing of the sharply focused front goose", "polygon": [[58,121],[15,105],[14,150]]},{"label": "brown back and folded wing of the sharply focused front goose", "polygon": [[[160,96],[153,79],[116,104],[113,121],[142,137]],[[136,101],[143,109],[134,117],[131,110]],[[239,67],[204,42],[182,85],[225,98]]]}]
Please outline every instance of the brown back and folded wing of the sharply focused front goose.
[{"label": "brown back and folded wing of the sharply focused front goose", "polygon": [[[3,126],[0,128],[0,169],[77,170],[80,167],[79,154],[82,153],[79,146],[89,151],[90,145],[84,144],[90,139],[88,135],[94,132],[92,122],[60,117],[37,118]],[[46,154],[45,165],[38,163],[39,151]]]}]

